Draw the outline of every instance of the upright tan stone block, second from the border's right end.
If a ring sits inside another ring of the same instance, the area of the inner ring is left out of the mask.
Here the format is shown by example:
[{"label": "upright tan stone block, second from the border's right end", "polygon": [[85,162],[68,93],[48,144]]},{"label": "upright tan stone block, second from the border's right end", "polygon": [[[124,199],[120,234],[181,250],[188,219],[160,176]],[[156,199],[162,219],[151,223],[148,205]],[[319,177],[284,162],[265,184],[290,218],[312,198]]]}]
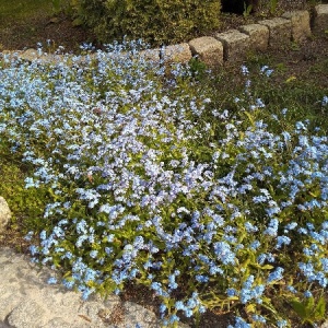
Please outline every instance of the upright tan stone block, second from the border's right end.
[{"label": "upright tan stone block, second from the border's right end", "polygon": [[282,15],[292,23],[292,39],[294,42],[305,40],[311,36],[309,13],[306,10],[289,11]]}]

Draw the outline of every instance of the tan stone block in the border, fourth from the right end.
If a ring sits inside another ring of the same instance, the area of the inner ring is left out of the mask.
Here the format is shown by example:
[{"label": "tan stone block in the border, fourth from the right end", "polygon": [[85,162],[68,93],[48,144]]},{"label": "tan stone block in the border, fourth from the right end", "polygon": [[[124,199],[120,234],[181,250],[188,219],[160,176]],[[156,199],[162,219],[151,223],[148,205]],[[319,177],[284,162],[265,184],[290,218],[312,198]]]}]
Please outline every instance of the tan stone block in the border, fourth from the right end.
[{"label": "tan stone block in the border, fourth from the right end", "polygon": [[265,51],[269,44],[269,28],[260,24],[242,25],[241,32],[249,36],[249,48]]}]

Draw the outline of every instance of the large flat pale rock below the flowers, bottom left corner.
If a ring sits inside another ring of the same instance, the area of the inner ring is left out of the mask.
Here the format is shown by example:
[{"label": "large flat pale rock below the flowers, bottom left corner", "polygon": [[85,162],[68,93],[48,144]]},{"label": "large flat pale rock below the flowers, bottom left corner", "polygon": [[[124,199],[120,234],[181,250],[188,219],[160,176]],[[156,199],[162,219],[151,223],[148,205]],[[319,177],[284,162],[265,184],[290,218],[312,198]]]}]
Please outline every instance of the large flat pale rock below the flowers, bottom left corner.
[{"label": "large flat pale rock below the flowers, bottom left corner", "polygon": [[[20,277],[10,280],[7,276],[0,280],[1,328],[127,328],[136,327],[137,323],[144,328],[162,327],[153,312],[132,302],[121,302],[117,295],[107,300],[94,295],[83,302],[81,293],[60,284],[49,285],[47,280],[56,272],[38,269],[30,263],[27,256],[10,248],[0,248],[0,263],[1,273],[5,268],[12,277]],[[22,274],[21,268],[24,268]]]}]

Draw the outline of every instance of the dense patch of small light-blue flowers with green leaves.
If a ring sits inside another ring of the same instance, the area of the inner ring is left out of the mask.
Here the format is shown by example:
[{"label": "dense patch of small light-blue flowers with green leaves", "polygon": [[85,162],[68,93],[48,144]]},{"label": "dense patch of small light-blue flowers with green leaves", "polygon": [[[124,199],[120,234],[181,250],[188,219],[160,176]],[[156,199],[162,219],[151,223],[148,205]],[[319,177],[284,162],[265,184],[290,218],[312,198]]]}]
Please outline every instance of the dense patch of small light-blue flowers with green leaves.
[{"label": "dense patch of small light-blue flowers with green leaves", "polygon": [[234,313],[230,327],[290,327],[289,306],[320,321],[325,120],[276,108],[267,66],[243,66],[243,87],[222,101],[222,77],[197,60],[168,66],[126,46],[52,65],[3,57],[0,151],[40,208],[24,218],[34,261],[83,298],[145,285],[165,326],[207,308]]}]

